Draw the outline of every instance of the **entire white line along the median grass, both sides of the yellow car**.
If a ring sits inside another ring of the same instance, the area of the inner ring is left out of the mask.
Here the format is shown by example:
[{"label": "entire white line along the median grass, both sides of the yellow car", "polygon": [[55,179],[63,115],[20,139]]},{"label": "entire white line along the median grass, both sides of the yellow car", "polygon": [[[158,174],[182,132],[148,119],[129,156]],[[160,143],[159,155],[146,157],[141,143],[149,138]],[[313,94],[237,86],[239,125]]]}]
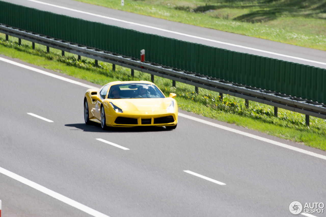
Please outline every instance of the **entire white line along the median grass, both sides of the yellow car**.
[{"label": "entire white line along the median grass, both sides of the yellow car", "polygon": [[[0,57],[0,60],[1,61],[4,61],[4,62],[7,62],[9,64],[12,64],[12,65],[17,65],[17,66],[20,66],[20,67],[23,67],[23,68],[26,68],[26,69],[29,69],[29,70],[32,70],[32,71],[35,71],[35,72],[44,74],[44,75],[51,76],[53,78],[57,78],[57,79],[60,79],[60,80],[64,80],[64,81],[67,81],[67,82],[70,82],[70,83],[74,83],[74,84],[80,85],[80,86],[83,86],[83,87],[92,88],[92,89],[98,89],[96,87],[93,87],[93,86],[90,86],[90,85],[87,85],[87,84],[83,84],[81,82],[74,81],[74,80],[71,80],[71,79],[67,79],[67,78],[64,78],[64,77],[61,77],[61,76],[58,76],[58,75],[54,75],[52,73],[45,72],[45,71],[42,71],[40,69],[36,69],[36,68],[30,67],[30,66],[26,66],[26,65],[23,65],[23,64],[20,64],[20,63],[11,61],[11,60],[7,60],[5,58],[1,58]],[[320,159],[326,160],[326,156],[325,155],[321,155],[321,154],[317,154],[317,153],[314,153],[314,152],[306,151],[304,149],[296,148],[296,147],[293,147],[293,146],[290,146],[290,145],[286,145],[286,144],[281,143],[281,142],[276,142],[274,140],[267,139],[267,138],[264,138],[264,137],[259,137],[259,136],[256,136],[256,135],[253,135],[253,134],[250,134],[250,133],[245,133],[245,132],[242,132],[240,130],[232,129],[230,127],[222,126],[220,124],[216,124],[216,123],[205,121],[205,120],[202,120],[202,119],[199,119],[199,118],[195,118],[195,117],[192,117],[190,115],[186,115],[186,114],[183,114],[183,113],[180,113],[180,112],[178,113],[178,115],[180,117],[188,118],[188,119],[191,119],[193,121],[197,121],[197,122],[200,122],[200,123],[208,124],[208,125],[211,125],[211,126],[220,128],[220,129],[228,130],[230,132],[234,132],[234,133],[237,133],[237,134],[240,134],[240,135],[243,135],[243,136],[255,138],[255,139],[258,139],[258,140],[261,140],[261,141],[264,141],[264,142],[268,142],[270,144],[278,145],[278,146],[283,147],[283,148],[287,148],[287,149],[290,149],[290,150],[293,150],[293,151],[301,152],[301,153],[304,153],[304,154],[308,154],[308,155],[311,155],[311,156],[318,157]]]}]

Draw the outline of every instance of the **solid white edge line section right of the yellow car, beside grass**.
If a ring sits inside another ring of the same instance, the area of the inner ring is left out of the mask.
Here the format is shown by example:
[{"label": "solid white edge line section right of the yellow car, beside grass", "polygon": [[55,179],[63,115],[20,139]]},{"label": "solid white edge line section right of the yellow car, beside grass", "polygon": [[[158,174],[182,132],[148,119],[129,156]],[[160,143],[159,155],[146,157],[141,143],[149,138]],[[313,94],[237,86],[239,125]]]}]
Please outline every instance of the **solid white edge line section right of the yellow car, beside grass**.
[{"label": "solid white edge line section right of the yellow car, beside grass", "polygon": [[181,116],[181,117],[184,117],[184,118],[191,119],[193,121],[208,124],[210,126],[214,126],[214,127],[217,127],[217,128],[223,129],[223,130],[227,130],[227,131],[237,133],[237,134],[240,134],[240,135],[243,135],[243,136],[246,136],[246,137],[254,138],[254,139],[257,139],[257,140],[260,140],[260,141],[263,141],[263,142],[267,142],[267,143],[270,143],[270,144],[273,144],[273,145],[277,145],[277,146],[287,148],[287,149],[290,149],[290,150],[293,150],[293,151],[296,151],[296,152],[301,152],[301,153],[304,153],[304,154],[308,154],[308,155],[311,155],[311,156],[318,157],[320,159],[326,160],[326,156],[322,155],[322,154],[317,154],[317,153],[314,153],[314,152],[306,151],[304,149],[293,147],[293,146],[290,146],[290,145],[287,145],[287,144],[284,144],[284,143],[281,143],[281,142],[274,141],[272,139],[259,137],[259,136],[256,136],[254,134],[251,134],[251,133],[246,133],[246,132],[236,130],[236,129],[233,129],[233,128],[230,128],[230,127],[226,127],[226,126],[223,126],[223,125],[220,125],[220,124],[217,124],[217,123],[212,123],[212,122],[209,122],[209,121],[205,121],[205,120],[202,120],[202,119],[199,119],[199,118],[192,117],[190,115],[186,115],[186,114],[182,114],[182,113],[178,113],[178,115]]}]

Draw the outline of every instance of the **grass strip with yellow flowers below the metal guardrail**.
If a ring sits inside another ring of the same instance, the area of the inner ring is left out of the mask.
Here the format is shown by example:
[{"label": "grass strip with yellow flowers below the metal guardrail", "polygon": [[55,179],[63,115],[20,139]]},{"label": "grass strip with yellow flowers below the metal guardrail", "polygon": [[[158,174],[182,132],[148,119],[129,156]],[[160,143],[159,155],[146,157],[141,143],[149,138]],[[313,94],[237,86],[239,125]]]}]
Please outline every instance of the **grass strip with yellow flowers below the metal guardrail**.
[{"label": "grass strip with yellow flowers below the metal guardrail", "polygon": [[[47,53],[45,46],[36,44],[35,50],[31,46],[32,43],[24,40],[19,46],[18,39],[13,37],[6,41],[0,34],[0,54],[79,79],[100,85],[114,80],[151,80],[149,74],[139,71],[131,77],[130,69],[124,67],[116,66],[116,71],[112,71],[112,65],[108,63],[99,62],[96,67],[92,59],[82,57],[78,61],[76,55],[67,52],[62,57],[59,50],[50,49]],[[271,106],[250,101],[247,109],[241,98],[224,94],[221,101],[216,92],[199,88],[199,94],[196,94],[194,86],[176,82],[176,87],[172,87],[171,80],[160,77],[155,77],[155,83],[165,95],[176,93],[178,107],[185,111],[326,150],[324,119],[311,117],[310,127],[306,127],[305,116],[300,113],[279,109],[276,118]]]}]

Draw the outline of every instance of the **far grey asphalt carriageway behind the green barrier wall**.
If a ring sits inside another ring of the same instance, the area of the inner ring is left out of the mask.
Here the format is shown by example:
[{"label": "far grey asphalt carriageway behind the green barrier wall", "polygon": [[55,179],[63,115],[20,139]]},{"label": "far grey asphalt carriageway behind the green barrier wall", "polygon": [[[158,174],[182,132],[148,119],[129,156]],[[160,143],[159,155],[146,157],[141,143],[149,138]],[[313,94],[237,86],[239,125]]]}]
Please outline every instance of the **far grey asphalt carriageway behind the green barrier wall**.
[{"label": "far grey asphalt carriageway behind the green barrier wall", "polygon": [[[232,51],[326,68],[326,51],[171,22],[73,0],[5,0],[41,10]],[[43,4],[42,4],[43,3]],[[45,3],[45,4],[44,4]]]}]

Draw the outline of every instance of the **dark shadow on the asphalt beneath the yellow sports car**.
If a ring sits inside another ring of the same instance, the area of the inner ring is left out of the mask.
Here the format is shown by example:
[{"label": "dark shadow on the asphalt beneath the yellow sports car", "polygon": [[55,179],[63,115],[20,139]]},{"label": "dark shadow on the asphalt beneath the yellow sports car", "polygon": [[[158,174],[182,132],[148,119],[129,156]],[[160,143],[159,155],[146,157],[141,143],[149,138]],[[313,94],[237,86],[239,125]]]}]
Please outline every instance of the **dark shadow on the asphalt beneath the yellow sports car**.
[{"label": "dark shadow on the asphalt beneath the yellow sports car", "polygon": [[[170,131],[165,127],[158,126],[139,126],[139,127],[109,127],[108,130],[102,130],[99,123],[92,123],[90,125],[85,123],[72,123],[65,124],[68,127],[75,127],[70,130],[82,130],[85,132],[98,132],[98,133],[110,133],[110,132],[158,132],[158,131]],[[76,129],[77,128],[77,129]]]}]

